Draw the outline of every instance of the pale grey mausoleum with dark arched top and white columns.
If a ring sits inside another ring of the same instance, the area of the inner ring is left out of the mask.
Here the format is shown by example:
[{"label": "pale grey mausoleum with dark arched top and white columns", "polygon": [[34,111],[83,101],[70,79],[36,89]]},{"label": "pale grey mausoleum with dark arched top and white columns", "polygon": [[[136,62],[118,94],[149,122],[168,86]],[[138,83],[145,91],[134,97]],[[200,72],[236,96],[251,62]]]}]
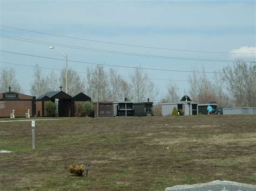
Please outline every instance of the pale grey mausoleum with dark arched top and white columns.
[{"label": "pale grey mausoleum with dark arched top and white columns", "polygon": [[181,97],[177,103],[162,103],[162,115],[171,115],[174,107],[179,115],[198,115],[198,103],[193,102],[187,95]]}]

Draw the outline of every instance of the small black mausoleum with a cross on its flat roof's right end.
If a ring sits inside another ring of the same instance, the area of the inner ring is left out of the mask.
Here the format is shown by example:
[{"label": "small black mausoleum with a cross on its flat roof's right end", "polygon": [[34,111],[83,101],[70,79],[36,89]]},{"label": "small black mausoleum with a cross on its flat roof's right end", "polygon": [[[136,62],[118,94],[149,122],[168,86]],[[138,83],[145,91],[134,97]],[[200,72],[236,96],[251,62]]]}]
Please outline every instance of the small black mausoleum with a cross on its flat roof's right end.
[{"label": "small black mausoleum with a cross on its flat roof's right end", "polygon": [[150,102],[149,98],[147,102],[133,103],[133,109],[134,116],[153,116],[153,102]]}]

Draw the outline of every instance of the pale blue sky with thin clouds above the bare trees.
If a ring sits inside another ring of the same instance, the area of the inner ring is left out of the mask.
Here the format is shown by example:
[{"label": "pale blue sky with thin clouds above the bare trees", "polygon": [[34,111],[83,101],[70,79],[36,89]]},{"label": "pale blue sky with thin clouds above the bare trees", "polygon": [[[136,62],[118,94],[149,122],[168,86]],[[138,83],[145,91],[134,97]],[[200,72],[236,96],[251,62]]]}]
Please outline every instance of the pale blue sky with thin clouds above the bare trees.
[{"label": "pale blue sky with thin clouds above the bare trees", "polygon": [[169,81],[180,96],[188,94],[192,73],[182,71],[219,72],[237,58],[256,60],[255,1],[0,2],[0,69],[14,68],[28,95],[32,66],[65,67],[64,56],[50,46],[68,55],[68,67],[83,77],[96,64],[114,65],[127,82],[133,69],[122,66],[151,68],[144,71],[159,89],[155,102]]}]

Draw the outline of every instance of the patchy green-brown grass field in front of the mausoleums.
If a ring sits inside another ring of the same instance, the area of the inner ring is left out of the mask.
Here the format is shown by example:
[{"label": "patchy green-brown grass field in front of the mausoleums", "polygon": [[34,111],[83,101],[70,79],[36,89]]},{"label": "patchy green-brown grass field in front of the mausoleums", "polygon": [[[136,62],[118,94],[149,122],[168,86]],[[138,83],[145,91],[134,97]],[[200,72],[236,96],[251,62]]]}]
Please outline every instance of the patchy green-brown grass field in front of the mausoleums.
[{"label": "patchy green-brown grass field in front of the mausoleums", "polygon": [[[0,119],[3,121],[5,119]],[[169,147],[169,149],[167,149]],[[66,118],[1,122],[3,190],[164,190],[229,180],[256,185],[256,116]],[[89,176],[69,166],[90,164]]]}]

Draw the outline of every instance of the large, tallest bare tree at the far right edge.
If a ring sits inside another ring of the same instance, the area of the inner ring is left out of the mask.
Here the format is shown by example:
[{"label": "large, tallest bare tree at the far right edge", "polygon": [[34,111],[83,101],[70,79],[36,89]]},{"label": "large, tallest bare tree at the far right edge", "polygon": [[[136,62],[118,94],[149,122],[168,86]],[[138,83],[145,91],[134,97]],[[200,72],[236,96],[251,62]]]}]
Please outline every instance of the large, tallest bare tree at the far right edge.
[{"label": "large, tallest bare tree at the far right edge", "polygon": [[234,107],[255,107],[256,101],[256,66],[238,59],[232,66],[223,68],[223,81],[226,82]]}]

